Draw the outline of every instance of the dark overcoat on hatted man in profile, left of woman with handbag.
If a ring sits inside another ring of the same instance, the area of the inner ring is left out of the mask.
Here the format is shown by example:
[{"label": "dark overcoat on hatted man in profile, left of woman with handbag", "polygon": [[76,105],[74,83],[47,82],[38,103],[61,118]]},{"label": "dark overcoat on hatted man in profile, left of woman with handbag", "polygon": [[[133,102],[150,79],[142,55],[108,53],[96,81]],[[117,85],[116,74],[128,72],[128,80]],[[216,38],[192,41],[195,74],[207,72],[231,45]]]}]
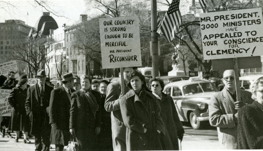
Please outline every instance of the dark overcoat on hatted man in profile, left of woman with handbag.
[{"label": "dark overcoat on hatted man in profile, left of woman with handbag", "polygon": [[[75,92],[70,89],[71,93]],[[70,97],[63,86],[54,89],[50,96],[49,114],[50,124],[56,123],[56,129],[51,131],[51,143],[59,144],[63,140],[63,144],[67,145],[70,140],[69,135],[69,117],[70,117]]]}]

